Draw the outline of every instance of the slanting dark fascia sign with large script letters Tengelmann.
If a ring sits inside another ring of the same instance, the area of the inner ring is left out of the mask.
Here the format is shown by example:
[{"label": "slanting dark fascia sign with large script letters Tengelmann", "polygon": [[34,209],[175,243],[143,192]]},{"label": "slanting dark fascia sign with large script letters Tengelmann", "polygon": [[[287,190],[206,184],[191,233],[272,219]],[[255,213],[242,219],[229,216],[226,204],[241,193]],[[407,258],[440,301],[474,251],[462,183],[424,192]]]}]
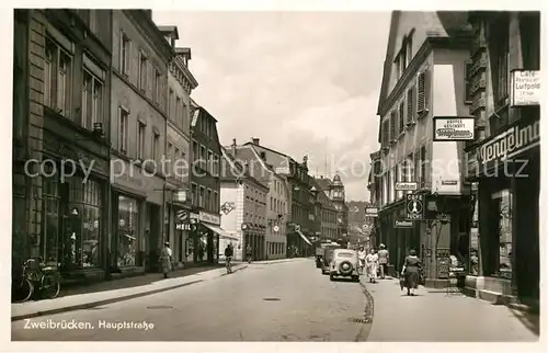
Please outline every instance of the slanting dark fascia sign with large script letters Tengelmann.
[{"label": "slanting dark fascia sign with large script letters Tengelmann", "polygon": [[539,145],[539,116],[527,122],[520,119],[516,125],[478,147],[478,163],[481,171],[486,171]]}]

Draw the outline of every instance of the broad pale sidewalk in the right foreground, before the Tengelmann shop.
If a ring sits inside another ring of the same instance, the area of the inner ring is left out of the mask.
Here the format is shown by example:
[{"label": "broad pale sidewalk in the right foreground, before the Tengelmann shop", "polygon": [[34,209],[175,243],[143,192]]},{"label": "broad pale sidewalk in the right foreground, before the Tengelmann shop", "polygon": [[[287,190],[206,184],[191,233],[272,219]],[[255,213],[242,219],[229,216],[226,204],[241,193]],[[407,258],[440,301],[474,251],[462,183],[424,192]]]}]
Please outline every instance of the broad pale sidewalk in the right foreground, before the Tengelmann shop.
[{"label": "broad pale sidewalk in the right foreground, before the Tengelmann shop", "polygon": [[539,339],[538,331],[535,333],[538,323],[506,306],[423,286],[410,297],[406,291],[400,292],[399,281],[392,278],[372,284],[362,277],[362,283],[374,299],[368,341],[535,342]]}]

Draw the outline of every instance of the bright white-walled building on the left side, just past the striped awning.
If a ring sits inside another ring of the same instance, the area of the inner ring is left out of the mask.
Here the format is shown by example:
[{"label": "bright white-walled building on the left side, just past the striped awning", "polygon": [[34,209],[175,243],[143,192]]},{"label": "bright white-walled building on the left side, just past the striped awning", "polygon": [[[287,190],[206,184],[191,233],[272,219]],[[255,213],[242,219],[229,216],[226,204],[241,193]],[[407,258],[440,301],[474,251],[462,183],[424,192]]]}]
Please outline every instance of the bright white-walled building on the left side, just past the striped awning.
[{"label": "bright white-walled building on the left side, just past the striped awning", "polygon": [[235,246],[235,259],[244,260],[246,249],[251,246],[254,260],[267,255],[267,194],[269,186],[253,176],[252,167],[238,157],[235,148],[221,148],[221,226],[236,241],[228,238],[221,242],[221,250],[227,242]]}]

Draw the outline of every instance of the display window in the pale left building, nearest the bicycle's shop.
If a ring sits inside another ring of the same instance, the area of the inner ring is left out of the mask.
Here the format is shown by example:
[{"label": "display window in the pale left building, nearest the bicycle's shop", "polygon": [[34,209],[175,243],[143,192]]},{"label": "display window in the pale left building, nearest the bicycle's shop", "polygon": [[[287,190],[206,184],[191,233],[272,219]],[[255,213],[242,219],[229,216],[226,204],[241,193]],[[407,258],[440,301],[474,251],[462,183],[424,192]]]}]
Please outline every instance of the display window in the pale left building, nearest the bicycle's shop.
[{"label": "display window in the pale left building, nearest the bicycle's shop", "polygon": [[139,203],[135,198],[118,196],[117,265],[135,266],[139,235]]}]

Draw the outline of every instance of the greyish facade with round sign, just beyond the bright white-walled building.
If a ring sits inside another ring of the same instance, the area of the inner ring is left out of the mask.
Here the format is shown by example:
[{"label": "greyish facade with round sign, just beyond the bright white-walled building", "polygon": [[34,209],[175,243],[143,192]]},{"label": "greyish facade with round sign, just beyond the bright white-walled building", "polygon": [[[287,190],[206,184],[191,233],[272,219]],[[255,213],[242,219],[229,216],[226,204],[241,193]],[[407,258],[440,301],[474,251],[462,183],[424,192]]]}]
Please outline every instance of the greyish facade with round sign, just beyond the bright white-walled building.
[{"label": "greyish facade with round sign, just beyond the bright white-walled building", "polygon": [[[259,145],[259,140],[255,139]],[[266,232],[264,257],[282,259],[287,249],[288,190],[284,175],[277,174],[266,159],[264,151],[258,151],[252,144],[238,146],[236,140],[227,150],[233,158],[248,163],[254,179],[269,186],[266,195]]]}]

